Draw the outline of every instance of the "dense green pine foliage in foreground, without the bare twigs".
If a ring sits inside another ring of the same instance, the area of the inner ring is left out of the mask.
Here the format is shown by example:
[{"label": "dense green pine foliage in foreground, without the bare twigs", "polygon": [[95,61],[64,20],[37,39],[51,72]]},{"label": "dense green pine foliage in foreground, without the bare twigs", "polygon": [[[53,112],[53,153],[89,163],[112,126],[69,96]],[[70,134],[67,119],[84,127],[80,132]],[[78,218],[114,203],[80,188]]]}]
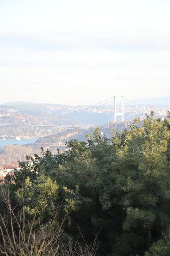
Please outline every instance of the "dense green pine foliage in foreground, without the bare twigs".
[{"label": "dense green pine foliage in foreground, without the bare twigs", "polygon": [[111,139],[95,128],[57,155],[41,148],[3,186],[15,202],[24,196],[29,218],[38,209],[46,223],[60,209],[67,235],[91,243],[99,233],[99,255],[168,255],[170,125],[151,112],[138,126],[135,119],[128,130],[112,129]]}]

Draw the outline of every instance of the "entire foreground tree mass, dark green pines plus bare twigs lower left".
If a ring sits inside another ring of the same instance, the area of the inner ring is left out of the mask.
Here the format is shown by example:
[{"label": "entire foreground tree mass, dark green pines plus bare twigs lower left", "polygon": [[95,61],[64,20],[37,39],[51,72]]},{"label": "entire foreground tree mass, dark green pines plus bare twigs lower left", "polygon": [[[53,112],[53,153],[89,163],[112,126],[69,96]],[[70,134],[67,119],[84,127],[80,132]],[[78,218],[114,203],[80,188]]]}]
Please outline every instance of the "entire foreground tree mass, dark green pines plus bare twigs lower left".
[{"label": "entire foreground tree mass, dark green pines plus bare twigs lower left", "polygon": [[27,156],[0,186],[0,255],[169,256],[170,112],[58,154]]}]

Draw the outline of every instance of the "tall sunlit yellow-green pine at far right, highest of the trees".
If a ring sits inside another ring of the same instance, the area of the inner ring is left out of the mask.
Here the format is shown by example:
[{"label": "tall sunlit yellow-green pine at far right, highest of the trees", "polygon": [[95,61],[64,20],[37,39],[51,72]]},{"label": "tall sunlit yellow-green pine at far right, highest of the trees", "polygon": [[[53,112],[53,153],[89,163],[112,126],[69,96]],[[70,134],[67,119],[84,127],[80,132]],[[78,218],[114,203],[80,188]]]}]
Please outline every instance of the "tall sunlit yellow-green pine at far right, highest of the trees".
[{"label": "tall sunlit yellow-green pine at far right, highest of the trees", "polygon": [[124,229],[147,230],[147,247],[151,245],[153,231],[170,223],[169,195],[170,173],[166,156],[170,131],[164,122],[154,118],[154,113],[144,120],[143,143],[138,154],[138,174],[129,176],[124,191],[127,201],[127,217]]}]

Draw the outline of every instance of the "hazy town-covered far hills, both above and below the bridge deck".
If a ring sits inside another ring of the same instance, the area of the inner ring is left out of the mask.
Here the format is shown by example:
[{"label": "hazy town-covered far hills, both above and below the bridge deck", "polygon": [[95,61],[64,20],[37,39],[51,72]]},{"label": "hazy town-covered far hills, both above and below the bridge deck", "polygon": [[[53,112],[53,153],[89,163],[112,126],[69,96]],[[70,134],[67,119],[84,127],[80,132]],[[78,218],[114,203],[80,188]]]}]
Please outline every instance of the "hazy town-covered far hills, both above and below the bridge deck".
[{"label": "hazy town-covered far hills, both above and below the bridge deck", "polygon": [[[165,100],[166,99],[166,100]],[[145,99],[143,99],[144,102]],[[147,99],[150,102],[150,99]],[[154,100],[154,98],[153,98]],[[162,98],[162,102],[168,102],[169,98]],[[155,99],[159,103],[159,98]],[[139,101],[138,101],[139,103]],[[154,103],[154,102],[152,102]],[[128,104],[130,104],[128,102]],[[128,105],[125,102],[124,119],[133,120],[136,117],[145,118],[152,110],[156,117],[164,118],[169,109],[167,105],[148,106]],[[121,112],[121,106],[117,102],[117,112]],[[118,122],[121,116],[116,116]],[[30,102],[11,102],[0,105],[0,124],[15,125],[66,125],[66,126],[102,126],[113,121],[113,104],[90,106],[70,106],[50,103],[30,103]],[[121,127],[121,125],[119,125]],[[22,138],[39,138],[62,132],[64,128],[48,127],[1,127],[0,138],[13,138],[21,136]],[[104,129],[105,130],[105,129]],[[105,131],[107,133],[107,131]],[[75,135],[78,136],[78,135]],[[85,136],[84,136],[85,139]]]}]

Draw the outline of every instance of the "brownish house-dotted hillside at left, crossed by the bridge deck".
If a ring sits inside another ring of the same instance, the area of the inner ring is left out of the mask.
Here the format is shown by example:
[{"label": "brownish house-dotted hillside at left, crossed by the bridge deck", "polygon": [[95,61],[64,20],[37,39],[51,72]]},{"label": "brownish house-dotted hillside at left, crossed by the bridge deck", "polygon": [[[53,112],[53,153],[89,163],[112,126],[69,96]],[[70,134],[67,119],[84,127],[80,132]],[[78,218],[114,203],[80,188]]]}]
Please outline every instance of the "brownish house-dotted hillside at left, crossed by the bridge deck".
[{"label": "brownish house-dotted hillside at left, crossed by the bridge deck", "polygon": [[81,125],[78,121],[67,119],[48,108],[35,105],[0,105],[0,124],[33,125],[27,126],[0,126],[0,138],[12,139],[16,136],[22,138],[38,138],[61,132],[62,128],[34,127],[34,125]]}]

